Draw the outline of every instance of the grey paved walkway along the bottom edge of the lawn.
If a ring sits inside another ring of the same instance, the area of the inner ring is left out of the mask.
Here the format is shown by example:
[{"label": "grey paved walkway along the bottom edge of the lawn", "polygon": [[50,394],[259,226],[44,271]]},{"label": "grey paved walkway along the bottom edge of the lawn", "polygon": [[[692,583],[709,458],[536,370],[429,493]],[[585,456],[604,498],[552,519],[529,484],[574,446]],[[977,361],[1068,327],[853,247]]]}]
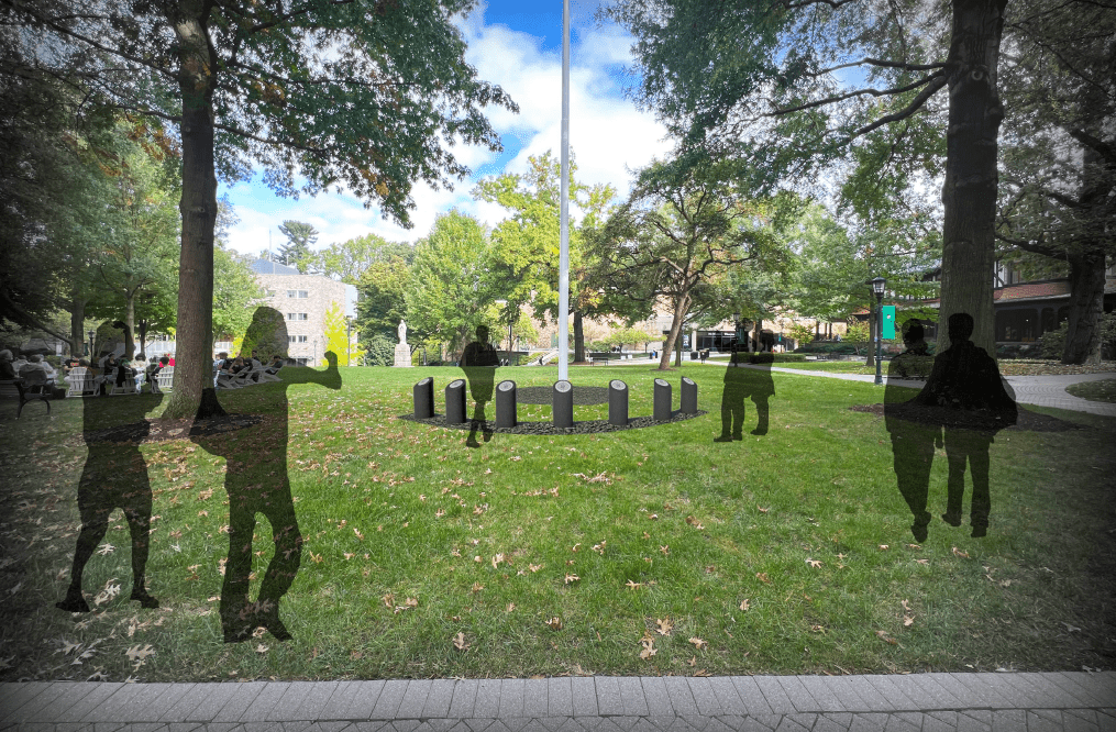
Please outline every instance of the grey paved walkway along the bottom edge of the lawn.
[{"label": "grey paved walkway along the bottom edge of the lawn", "polygon": [[1116,730],[1116,672],[0,684],[0,730]]}]

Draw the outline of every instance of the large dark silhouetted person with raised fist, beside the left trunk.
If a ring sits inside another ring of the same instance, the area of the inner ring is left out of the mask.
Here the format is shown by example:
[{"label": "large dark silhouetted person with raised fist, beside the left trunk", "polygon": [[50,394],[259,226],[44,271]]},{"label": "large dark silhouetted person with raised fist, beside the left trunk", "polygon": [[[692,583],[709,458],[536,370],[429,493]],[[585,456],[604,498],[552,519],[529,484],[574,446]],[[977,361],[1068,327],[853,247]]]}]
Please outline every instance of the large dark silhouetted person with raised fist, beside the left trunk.
[{"label": "large dark silhouetted person with raised fist, beside the left trunk", "polygon": [[[257,308],[252,324],[244,336],[246,347],[264,353],[286,354],[287,327],[282,316],[269,307]],[[252,637],[252,632],[264,627],[279,641],[291,637],[279,618],[279,600],[290,589],[302,558],[302,534],[295,516],[295,501],[287,475],[288,411],[287,388],[292,384],[320,384],[340,388],[337,355],[326,353],[329,367],[319,372],[312,368],[283,368],[282,381],[277,385],[261,386],[275,398],[270,399],[277,420],[264,421],[253,441],[270,445],[264,454],[246,450],[238,444],[235,433],[191,433],[191,440],[206,452],[227,461],[224,488],[229,494],[229,559],[221,587],[221,628],[225,643],[240,643]],[[239,393],[234,392],[234,393]],[[218,392],[224,396],[230,392]],[[267,471],[259,470],[266,463]],[[249,601],[249,575],[252,569],[252,532],[256,514],[262,513],[271,524],[275,556],[268,564],[260,591],[254,603]]]}]

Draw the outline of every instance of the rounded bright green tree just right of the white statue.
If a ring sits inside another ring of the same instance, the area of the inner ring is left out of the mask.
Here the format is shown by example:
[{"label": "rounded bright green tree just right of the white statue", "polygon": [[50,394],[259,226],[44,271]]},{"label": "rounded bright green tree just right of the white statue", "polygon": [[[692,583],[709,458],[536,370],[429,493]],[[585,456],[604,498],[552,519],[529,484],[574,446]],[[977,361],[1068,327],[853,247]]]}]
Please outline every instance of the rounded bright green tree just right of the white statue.
[{"label": "rounded bright green tree just right of the white statue", "polygon": [[493,247],[481,224],[453,210],[439,215],[430,235],[415,247],[406,289],[407,327],[416,340],[435,338],[451,351],[464,347],[498,299],[491,267]]}]

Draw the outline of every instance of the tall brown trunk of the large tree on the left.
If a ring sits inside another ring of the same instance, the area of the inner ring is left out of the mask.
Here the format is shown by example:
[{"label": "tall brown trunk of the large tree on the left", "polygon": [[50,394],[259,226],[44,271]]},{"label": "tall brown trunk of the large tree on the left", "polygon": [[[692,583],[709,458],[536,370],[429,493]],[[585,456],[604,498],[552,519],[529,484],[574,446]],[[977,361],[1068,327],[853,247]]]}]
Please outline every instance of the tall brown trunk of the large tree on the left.
[{"label": "tall brown trunk of the large tree on the left", "polygon": [[213,228],[217,174],[213,166],[213,90],[217,54],[206,20],[210,3],[182,0],[171,6],[179,41],[182,93],[182,258],[179,269],[179,325],[174,389],[164,418],[224,414],[213,389]]}]

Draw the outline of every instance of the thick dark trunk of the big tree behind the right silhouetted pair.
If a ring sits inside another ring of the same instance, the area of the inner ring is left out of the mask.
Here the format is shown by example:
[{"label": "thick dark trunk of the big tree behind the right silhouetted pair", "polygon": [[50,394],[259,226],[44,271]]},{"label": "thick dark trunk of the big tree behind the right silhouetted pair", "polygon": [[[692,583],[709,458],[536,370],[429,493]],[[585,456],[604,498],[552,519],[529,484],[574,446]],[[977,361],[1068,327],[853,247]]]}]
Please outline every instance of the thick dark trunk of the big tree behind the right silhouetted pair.
[{"label": "thick dark trunk of the big tree behind the right silhouetted pair", "polygon": [[968,312],[975,321],[973,343],[994,358],[995,157],[1003,119],[997,71],[1007,0],[953,0],[952,6],[937,353],[950,347],[949,317]]}]

